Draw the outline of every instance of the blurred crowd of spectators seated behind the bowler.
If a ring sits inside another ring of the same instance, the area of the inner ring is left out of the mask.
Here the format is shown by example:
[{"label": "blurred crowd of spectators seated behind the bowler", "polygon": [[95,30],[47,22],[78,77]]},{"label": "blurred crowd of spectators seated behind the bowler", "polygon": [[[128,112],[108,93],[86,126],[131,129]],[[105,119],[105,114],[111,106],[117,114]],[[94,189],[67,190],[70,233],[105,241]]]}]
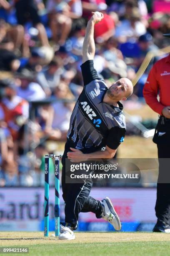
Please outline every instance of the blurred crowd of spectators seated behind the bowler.
[{"label": "blurred crowd of spectators seated behind the bowler", "polygon": [[[46,141],[66,140],[91,11],[104,14],[94,64],[108,85],[133,80],[146,54],[169,44],[169,0],[0,0],[1,187],[42,185],[43,156],[55,151]],[[131,101],[143,97],[149,70]]]}]

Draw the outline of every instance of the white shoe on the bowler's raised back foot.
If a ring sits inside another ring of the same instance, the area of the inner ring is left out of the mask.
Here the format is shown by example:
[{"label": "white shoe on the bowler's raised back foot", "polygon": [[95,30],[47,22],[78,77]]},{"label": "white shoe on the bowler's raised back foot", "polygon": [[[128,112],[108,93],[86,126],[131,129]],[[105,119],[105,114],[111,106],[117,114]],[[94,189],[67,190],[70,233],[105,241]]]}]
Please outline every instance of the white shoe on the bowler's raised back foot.
[{"label": "white shoe on the bowler's raised back foot", "polygon": [[103,210],[102,218],[110,222],[110,224],[113,225],[115,230],[120,230],[121,223],[110,199],[106,197],[102,201],[100,201],[100,203],[102,205],[102,210]]}]

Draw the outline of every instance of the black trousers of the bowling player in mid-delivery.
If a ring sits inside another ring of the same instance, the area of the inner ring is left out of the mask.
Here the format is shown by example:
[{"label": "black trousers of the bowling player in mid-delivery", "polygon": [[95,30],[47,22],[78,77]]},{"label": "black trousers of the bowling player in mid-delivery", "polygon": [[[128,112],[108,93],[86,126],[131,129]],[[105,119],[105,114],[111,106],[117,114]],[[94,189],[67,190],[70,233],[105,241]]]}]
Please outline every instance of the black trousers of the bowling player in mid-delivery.
[{"label": "black trousers of the bowling player in mid-delivery", "polygon": [[91,179],[82,180],[80,184],[65,182],[65,159],[67,152],[71,151],[70,147],[74,148],[74,145],[67,141],[62,156],[62,197],[65,201],[65,223],[76,229],[80,212],[93,212],[96,218],[101,218],[102,207],[99,200],[89,196],[92,189]]}]

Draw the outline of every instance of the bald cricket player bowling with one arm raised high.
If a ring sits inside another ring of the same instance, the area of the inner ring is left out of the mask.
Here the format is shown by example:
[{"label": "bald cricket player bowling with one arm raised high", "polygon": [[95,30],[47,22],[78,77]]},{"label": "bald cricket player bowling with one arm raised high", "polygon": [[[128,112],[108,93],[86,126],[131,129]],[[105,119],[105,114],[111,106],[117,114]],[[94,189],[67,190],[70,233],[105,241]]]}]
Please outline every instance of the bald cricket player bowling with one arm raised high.
[{"label": "bald cricket player bowling with one arm raised high", "polygon": [[[70,128],[62,157],[62,192],[65,201],[65,223],[61,225],[59,239],[75,239],[80,212],[93,212],[120,230],[120,220],[108,197],[102,201],[90,197],[92,180],[81,184],[65,182],[65,159],[86,161],[87,159],[112,158],[124,140],[125,117],[120,100],[126,100],[133,92],[132,82],[121,78],[109,88],[98,77],[93,65],[95,55],[94,26],[103,14],[93,13],[87,23],[82,49],[82,76],[84,88],[70,118]],[[101,148],[105,147],[105,151]]]}]

